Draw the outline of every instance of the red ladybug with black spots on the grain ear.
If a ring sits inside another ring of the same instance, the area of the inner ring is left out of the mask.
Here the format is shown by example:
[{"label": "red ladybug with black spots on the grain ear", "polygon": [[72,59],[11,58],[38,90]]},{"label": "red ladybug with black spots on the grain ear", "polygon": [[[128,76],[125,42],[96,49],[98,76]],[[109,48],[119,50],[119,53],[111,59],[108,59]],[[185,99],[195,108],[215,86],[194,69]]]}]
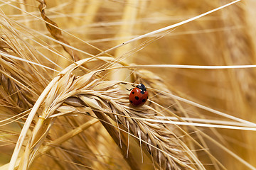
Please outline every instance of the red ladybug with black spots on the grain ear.
[{"label": "red ladybug with black spots on the grain ear", "polygon": [[129,94],[129,102],[132,104],[132,106],[142,106],[149,98],[148,91],[146,91],[144,84],[139,84],[129,91],[131,91]]}]

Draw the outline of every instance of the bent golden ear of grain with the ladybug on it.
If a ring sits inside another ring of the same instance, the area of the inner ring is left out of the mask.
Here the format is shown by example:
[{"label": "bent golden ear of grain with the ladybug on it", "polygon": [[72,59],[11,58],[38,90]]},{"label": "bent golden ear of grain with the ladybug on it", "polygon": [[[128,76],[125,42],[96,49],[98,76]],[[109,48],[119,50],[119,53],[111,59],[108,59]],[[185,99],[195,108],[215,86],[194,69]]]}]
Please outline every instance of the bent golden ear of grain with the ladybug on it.
[{"label": "bent golden ear of grain with the ladybug on it", "polygon": [[65,69],[63,74],[55,77],[46,88],[48,94],[45,102],[41,103],[43,108],[41,108],[40,118],[29,137],[19,169],[26,169],[31,165],[55,118],[59,116],[55,115],[58,114],[57,109],[71,97],[76,98],[84,107],[89,107],[94,112],[105,113],[124,126],[129,135],[139,141],[142,148],[161,169],[195,169],[191,154],[188,154],[188,150],[174,135],[173,127],[143,120],[143,118],[157,119],[154,116],[157,114],[154,108],[129,106],[127,91],[120,90],[119,81],[97,79],[94,76],[97,72],[76,77],[70,72],[75,67],[78,65],[73,64]]}]

